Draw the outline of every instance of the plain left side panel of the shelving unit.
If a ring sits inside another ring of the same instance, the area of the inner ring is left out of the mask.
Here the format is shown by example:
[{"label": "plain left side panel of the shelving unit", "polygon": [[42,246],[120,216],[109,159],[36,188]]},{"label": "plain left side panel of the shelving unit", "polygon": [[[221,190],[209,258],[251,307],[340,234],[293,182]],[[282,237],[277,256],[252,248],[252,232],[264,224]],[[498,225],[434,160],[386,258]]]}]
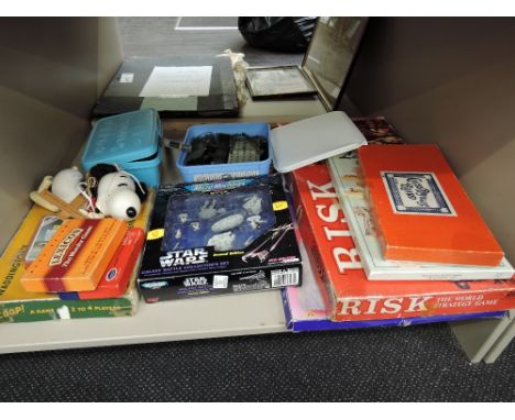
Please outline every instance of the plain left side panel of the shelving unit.
[{"label": "plain left side panel of the shelving unit", "polygon": [[122,59],[114,19],[0,19],[0,251],[43,176],[69,166]]}]

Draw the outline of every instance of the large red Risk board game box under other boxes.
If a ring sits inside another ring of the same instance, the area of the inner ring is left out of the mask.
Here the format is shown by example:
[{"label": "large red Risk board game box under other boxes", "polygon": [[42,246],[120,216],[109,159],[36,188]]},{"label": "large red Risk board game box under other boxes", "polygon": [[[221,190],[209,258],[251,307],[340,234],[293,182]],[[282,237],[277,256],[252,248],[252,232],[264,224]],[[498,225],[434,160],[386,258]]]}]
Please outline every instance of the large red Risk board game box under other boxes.
[{"label": "large red Risk board game box under other boxes", "polygon": [[330,319],[394,319],[515,308],[513,278],[369,281],[326,163],[294,170],[291,187],[300,235],[316,272],[317,283],[325,295]]}]

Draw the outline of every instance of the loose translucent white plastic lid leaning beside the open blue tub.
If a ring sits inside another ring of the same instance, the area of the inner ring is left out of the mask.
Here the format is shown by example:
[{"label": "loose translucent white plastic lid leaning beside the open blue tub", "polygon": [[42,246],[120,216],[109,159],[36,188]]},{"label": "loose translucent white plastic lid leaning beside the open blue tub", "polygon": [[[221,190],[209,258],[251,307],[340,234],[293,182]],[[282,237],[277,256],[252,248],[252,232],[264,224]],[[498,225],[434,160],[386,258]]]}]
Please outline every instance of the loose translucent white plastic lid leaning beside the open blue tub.
[{"label": "loose translucent white plastic lid leaning beside the open blue tub", "polygon": [[286,173],[353,151],[366,140],[344,112],[332,111],[272,130],[271,143],[275,169]]}]

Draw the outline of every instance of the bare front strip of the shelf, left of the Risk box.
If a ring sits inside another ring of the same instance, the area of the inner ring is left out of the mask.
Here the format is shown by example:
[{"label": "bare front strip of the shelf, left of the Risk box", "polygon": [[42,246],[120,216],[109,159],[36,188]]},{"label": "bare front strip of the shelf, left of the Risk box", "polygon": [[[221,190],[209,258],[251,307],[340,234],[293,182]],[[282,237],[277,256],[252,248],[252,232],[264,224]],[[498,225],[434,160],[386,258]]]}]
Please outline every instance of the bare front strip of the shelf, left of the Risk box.
[{"label": "bare front strip of the shelf, left of the Risk box", "polygon": [[286,332],[281,291],[140,302],[134,317],[2,324],[0,353]]}]

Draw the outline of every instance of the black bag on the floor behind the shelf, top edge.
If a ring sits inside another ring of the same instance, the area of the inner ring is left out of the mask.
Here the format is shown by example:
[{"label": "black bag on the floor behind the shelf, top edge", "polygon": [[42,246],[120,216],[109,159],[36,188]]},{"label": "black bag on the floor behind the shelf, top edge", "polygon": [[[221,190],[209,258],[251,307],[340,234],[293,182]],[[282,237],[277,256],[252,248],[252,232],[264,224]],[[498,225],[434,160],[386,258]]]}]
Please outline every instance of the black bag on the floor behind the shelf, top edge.
[{"label": "black bag on the floor behind the shelf, top edge", "polygon": [[238,18],[238,29],[256,47],[303,53],[309,45],[317,18]]}]

